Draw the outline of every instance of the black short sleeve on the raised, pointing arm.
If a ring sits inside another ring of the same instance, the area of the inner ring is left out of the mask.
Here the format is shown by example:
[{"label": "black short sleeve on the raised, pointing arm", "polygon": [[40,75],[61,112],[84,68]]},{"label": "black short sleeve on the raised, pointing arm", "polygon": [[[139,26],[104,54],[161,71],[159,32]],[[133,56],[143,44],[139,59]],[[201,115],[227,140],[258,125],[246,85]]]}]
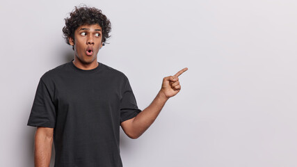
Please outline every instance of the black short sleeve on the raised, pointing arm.
[{"label": "black short sleeve on the raised, pointing arm", "polygon": [[126,78],[124,91],[122,91],[122,100],[120,101],[120,123],[137,116],[141,110],[138,109],[134,93]]}]

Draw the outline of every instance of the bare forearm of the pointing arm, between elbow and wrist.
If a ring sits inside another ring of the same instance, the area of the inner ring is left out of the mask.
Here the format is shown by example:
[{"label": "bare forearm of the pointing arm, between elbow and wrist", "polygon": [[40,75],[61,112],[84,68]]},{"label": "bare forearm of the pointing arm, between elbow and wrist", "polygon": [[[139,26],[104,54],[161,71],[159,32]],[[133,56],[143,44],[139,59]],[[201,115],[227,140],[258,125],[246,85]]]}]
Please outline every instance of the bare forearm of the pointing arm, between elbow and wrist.
[{"label": "bare forearm of the pointing arm, between elbow and wrist", "polygon": [[132,122],[133,136],[135,136],[135,138],[141,136],[141,134],[143,134],[147,128],[152,125],[167,100],[168,97],[166,97],[160,90],[150,106],[147,106],[147,108],[141,111],[141,113],[138,113]]}]

